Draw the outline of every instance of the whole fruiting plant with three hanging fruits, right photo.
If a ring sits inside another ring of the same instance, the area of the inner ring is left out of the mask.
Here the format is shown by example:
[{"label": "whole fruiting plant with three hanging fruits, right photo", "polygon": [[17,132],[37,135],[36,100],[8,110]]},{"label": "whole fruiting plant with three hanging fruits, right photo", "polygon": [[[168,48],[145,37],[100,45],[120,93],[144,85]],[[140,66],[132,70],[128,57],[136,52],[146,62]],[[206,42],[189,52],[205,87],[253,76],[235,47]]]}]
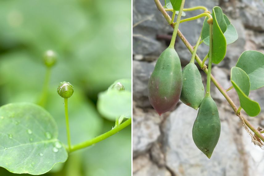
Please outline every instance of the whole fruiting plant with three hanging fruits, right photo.
[{"label": "whole fruiting plant with three hanging fruits, right photo", "polygon": [[[187,106],[196,110],[199,108],[192,128],[192,138],[197,148],[210,159],[221,132],[217,105],[210,95],[210,81],[212,81],[241,119],[252,142],[260,147],[263,146],[264,137],[261,133],[264,131],[261,128],[254,128],[242,115],[241,109],[253,117],[261,111],[259,104],[249,98],[249,93],[264,86],[264,54],[257,51],[243,52],[236,66],[231,68],[232,86],[225,90],[211,74],[212,63],[219,64],[224,59],[227,45],[235,42],[238,36],[235,27],[223,14],[222,9],[218,6],[212,10],[204,6],[184,9],[185,0],[170,0],[170,2],[165,0],[164,6],[159,0],[154,1],[164,18],[174,28],[171,43],[159,56],[148,82],[148,96],[154,109],[161,115],[175,107],[179,99]],[[184,12],[188,13],[192,10],[203,10],[204,12],[191,18],[181,19]],[[167,11],[172,11],[172,17],[167,14]],[[175,15],[177,15],[176,22],[174,22]],[[193,47],[180,32],[179,24],[204,17],[203,28]],[[177,35],[192,54],[190,63],[183,70],[181,70],[180,59],[174,48]],[[203,61],[196,54],[202,43],[209,46],[208,54]],[[207,59],[209,60],[208,66],[204,64]],[[206,88],[194,64],[195,60],[200,69],[207,74]],[[233,88],[239,97],[238,108],[227,94],[227,91]]]}]

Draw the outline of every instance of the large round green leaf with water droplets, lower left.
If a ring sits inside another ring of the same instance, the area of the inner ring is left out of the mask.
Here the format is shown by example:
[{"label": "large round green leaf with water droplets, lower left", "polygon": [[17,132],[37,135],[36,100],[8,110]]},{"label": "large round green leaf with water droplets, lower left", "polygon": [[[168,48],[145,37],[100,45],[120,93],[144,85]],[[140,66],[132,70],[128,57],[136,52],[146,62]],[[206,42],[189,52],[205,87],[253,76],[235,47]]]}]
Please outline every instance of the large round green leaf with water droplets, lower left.
[{"label": "large round green leaf with water droplets, lower left", "polygon": [[0,107],[0,166],[16,174],[44,174],[68,153],[52,116],[33,103]]}]

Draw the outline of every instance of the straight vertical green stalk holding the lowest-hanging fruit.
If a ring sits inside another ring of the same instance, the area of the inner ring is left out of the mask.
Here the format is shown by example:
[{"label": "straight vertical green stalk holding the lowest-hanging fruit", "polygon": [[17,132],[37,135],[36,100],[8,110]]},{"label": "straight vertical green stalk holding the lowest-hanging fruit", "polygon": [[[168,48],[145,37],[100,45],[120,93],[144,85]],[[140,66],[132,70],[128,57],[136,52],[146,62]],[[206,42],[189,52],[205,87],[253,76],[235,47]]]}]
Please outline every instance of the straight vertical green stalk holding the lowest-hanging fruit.
[{"label": "straight vertical green stalk holding the lowest-hanging fruit", "polygon": [[212,50],[213,50],[213,25],[209,24],[209,36],[210,36],[210,46],[209,46],[209,62],[208,62],[208,73],[206,82],[206,94],[205,96],[210,97],[210,83],[211,83],[211,69],[212,69]]}]

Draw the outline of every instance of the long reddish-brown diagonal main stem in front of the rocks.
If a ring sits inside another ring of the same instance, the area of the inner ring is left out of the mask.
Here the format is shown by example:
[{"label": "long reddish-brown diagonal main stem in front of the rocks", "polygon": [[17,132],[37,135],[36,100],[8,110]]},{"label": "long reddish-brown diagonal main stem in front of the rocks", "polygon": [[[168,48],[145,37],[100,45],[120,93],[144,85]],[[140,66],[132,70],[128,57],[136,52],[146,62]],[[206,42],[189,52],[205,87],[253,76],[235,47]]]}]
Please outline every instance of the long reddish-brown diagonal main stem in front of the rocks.
[{"label": "long reddish-brown diagonal main stem in front of the rocks", "polygon": [[[163,6],[161,5],[161,3],[159,2],[159,0],[154,0],[158,10],[162,13],[162,15],[164,16],[164,18],[167,20],[168,23],[170,23],[171,18],[170,16],[167,14],[167,12],[165,11],[165,9],[163,8]],[[171,27],[174,27],[174,25],[171,25]],[[180,39],[182,40],[182,42],[184,43],[184,45],[186,46],[186,48],[188,48],[188,50],[192,53],[193,52],[193,47],[192,45],[189,43],[189,41],[184,37],[184,35],[181,33],[181,31],[178,29],[178,36],[180,37]],[[200,65],[200,67],[202,67],[202,61],[200,60],[200,58],[198,57],[198,55],[196,54],[195,57],[197,63]],[[204,73],[208,73],[208,69],[203,69]],[[236,112],[237,111],[237,107],[235,105],[235,103],[233,102],[233,100],[229,97],[229,95],[226,93],[225,89],[219,84],[219,82],[217,82],[217,80],[213,77],[213,75],[211,74],[211,80],[214,83],[214,85],[217,87],[217,89],[221,92],[221,94],[225,97],[225,99],[227,100],[227,102],[230,104],[230,106],[232,107],[233,111]],[[240,113],[241,114],[241,113]],[[250,130],[252,132],[254,132],[263,142],[264,142],[264,136],[262,136],[262,134],[256,129],[254,128],[254,126],[252,124],[250,124],[250,122],[241,114],[241,118],[244,120],[246,126],[248,126],[248,128],[250,128]]]}]

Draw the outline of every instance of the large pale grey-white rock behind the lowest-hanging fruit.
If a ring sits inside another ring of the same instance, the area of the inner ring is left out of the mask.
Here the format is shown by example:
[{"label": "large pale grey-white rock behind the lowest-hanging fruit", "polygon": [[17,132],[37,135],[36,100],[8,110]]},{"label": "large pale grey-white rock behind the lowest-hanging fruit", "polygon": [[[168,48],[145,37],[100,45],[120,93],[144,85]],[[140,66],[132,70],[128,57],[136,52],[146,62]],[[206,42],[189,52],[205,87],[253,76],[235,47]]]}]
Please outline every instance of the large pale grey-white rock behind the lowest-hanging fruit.
[{"label": "large pale grey-white rock behind the lowest-hanging fruit", "polygon": [[[167,118],[163,128],[167,166],[177,176],[242,175],[243,163],[240,161],[240,153],[229,130],[229,124],[226,121],[221,122],[220,139],[209,160],[192,140],[192,125],[196,115],[196,110],[181,104]],[[230,116],[232,115],[229,113]]]}]

